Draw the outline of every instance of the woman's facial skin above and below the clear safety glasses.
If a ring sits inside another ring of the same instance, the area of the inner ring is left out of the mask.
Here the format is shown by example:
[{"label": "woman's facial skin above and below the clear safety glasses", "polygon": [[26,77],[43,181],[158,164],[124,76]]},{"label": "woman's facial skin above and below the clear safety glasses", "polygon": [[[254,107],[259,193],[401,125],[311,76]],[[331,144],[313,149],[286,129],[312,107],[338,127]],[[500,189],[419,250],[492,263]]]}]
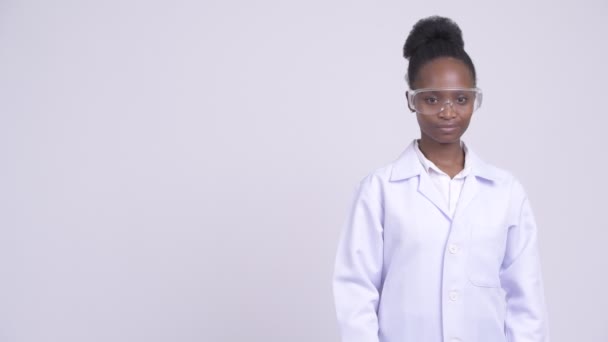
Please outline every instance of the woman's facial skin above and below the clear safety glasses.
[{"label": "woman's facial skin above and below the clear safety glasses", "polygon": [[[414,82],[420,88],[473,88],[475,82],[471,71],[463,62],[449,57],[440,57],[425,64]],[[458,143],[469,127],[473,112],[456,113],[446,105],[439,114],[416,114],[421,139],[440,144]]]}]

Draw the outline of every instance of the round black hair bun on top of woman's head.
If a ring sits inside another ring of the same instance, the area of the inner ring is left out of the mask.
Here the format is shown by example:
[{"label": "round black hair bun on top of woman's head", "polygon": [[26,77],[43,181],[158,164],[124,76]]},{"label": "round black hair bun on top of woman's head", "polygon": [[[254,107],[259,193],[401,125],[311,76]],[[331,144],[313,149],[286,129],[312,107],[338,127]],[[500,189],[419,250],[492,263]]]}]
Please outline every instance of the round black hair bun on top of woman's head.
[{"label": "round black hair bun on top of woman's head", "polygon": [[438,43],[453,44],[464,49],[462,31],[449,18],[432,16],[421,19],[414,25],[405,41],[403,56],[410,59],[421,47]]}]

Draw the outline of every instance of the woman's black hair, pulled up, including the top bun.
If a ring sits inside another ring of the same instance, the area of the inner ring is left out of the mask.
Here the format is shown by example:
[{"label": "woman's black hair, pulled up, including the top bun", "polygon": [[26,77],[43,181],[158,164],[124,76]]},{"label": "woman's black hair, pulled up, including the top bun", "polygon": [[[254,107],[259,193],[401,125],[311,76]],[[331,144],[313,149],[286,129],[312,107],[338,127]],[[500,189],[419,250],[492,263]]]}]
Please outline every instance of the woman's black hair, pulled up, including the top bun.
[{"label": "woman's black hair, pulled up, including the top bun", "polygon": [[476,82],[475,66],[464,51],[462,31],[449,18],[432,16],[419,20],[403,46],[403,57],[409,60],[407,82],[413,87],[420,68],[439,57],[452,57],[462,61],[471,70]]}]

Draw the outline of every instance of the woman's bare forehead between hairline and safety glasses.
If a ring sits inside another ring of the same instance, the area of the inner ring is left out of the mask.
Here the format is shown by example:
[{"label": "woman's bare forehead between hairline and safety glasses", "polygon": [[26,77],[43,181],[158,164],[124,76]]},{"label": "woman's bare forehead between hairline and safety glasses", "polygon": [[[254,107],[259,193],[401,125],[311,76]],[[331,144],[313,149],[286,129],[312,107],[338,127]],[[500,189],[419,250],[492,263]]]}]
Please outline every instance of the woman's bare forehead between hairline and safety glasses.
[{"label": "woman's bare forehead between hairline and safety glasses", "polygon": [[441,57],[422,66],[415,88],[472,88],[475,86],[469,67],[462,61]]}]

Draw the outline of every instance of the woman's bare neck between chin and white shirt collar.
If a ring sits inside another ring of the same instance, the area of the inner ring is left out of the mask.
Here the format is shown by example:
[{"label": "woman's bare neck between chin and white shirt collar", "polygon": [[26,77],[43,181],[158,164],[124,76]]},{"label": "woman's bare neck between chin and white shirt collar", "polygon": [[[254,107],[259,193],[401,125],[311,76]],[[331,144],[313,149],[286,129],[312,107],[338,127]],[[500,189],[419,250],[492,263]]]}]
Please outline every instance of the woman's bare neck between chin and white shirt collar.
[{"label": "woman's bare neck between chin and white shirt collar", "polygon": [[418,140],[418,146],[424,156],[450,177],[464,169],[464,150],[460,140],[452,143],[439,143],[424,135]]}]

